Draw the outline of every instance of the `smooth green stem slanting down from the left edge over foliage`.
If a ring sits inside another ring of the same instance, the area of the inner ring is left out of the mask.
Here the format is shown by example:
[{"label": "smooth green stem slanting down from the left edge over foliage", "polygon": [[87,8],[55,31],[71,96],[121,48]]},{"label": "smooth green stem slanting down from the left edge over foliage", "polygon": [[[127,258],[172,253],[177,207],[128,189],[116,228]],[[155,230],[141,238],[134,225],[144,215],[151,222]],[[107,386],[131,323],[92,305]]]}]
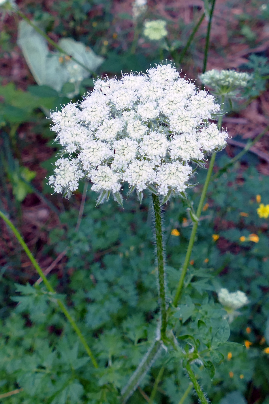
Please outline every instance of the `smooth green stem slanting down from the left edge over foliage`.
[{"label": "smooth green stem slanting down from the left edge over foliage", "polygon": [[[25,251],[25,253],[27,254],[29,260],[32,262],[34,268],[38,272],[38,275],[40,276],[40,278],[42,278],[42,280],[43,280],[46,288],[48,289],[48,291],[51,292],[51,293],[55,293],[55,290],[50,285],[50,282],[48,282],[46,276],[43,274],[42,269],[40,268],[40,266],[38,265],[36,259],[32,255],[32,252],[29,250],[29,248],[27,247],[25,241],[23,240],[23,238],[19,234],[19,231],[16,229],[16,227],[13,225],[13,223],[4,215],[4,213],[1,212],[1,210],[0,210],[0,217],[2,217],[2,219],[4,220],[6,225],[8,225],[11,228],[11,230],[13,231],[13,233],[15,234],[17,240],[21,244],[21,246],[22,246],[23,250]],[[59,308],[61,309],[61,311],[63,312],[63,314],[65,315],[65,317],[69,321],[69,323],[71,324],[71,326],[74,328],[74,331],[78,335],[78,338],[80,339],[82,345],[84,346],[86,352],[88,353],[88,356],[92,360],[93,366],[95,368],[98,368],[98,364],[97,364],[97,362],[95,360],[95,357],[93,356],[92,351],[91,351],[90,347],[88,346],[88,344],[86,342],[86,339],[83,337],[82,332],[78,328],[75,320],[70,316],[70,314],[68,313],[65,305],[63,304],[63,302],[60,299],[57,299],[57,303],[58,303]]]}]

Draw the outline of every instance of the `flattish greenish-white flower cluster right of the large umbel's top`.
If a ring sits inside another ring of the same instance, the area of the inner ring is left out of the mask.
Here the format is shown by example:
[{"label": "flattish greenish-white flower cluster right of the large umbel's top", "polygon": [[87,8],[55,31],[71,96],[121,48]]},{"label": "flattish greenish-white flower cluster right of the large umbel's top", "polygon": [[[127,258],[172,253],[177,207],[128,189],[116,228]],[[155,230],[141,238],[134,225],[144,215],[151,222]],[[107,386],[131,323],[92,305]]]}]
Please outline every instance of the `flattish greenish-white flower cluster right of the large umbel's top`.
[{"label": "flattish greenish-white flower cluster right of the large umbel's top", "polygon": [[218,95],[225,95],[248,85],[252,76],[235,70],[208,70],[200,75],[201,82]]}]

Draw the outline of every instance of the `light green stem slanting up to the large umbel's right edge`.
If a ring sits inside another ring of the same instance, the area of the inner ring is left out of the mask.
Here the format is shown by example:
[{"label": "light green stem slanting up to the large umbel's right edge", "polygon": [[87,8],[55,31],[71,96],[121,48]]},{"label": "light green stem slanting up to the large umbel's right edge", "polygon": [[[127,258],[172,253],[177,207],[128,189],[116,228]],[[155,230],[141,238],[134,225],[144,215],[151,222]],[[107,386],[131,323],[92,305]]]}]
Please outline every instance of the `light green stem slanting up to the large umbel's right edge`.
[{"label": "light green stem slanting up to the large umbel's right edge", "polygon": [[[207,175],[206,175],[206,182],[204,183],[204,188],[203,188],[202,195],[201,195],[201,198],[200,198],[200,202],[199,202],[199,205],[198,205],[198,209],[197,209],[197,212],[196,212],[196,216],[197,216],[198,219],[200,218],[202,208],[204,206],[204,200],[206,198],[206,192],[207,192],[210,177],[211,177],[211,174],[212,174],[215,157],[216,157],[216,152],[214,152],[212,154],[211,159],[210,159],[210,163],[209,163],[209,167],[208,167],[208,171],[207,171]],[[193,223],[193,227],[192,227],[192,230],[191,230],[191,238],[189,239],[189,245],[188,245],[188,248],[187,248],[185,261],[184,261],[183,268],[182,268],[182,271],[181,271],[179,284],[177,286],[176,295],[175,295],[174,301],[173,301],[173,304],[174,304],[175,307],[177,307],[177,304],[178,304],[178,301],[179,301],[179,298],[181,296],[181,292],[182,292],[182,289],[183,289],[184,279],[185,279],[185,276],[186,276],[186,273],[187,273],[187,268],[188,268],[189,260],[190,260],[190,257],[191,257],[191,251],[192,251],[192,248],[193,248],[193,243],[194,243],[197,227],[198,227],[198,221]]]}]

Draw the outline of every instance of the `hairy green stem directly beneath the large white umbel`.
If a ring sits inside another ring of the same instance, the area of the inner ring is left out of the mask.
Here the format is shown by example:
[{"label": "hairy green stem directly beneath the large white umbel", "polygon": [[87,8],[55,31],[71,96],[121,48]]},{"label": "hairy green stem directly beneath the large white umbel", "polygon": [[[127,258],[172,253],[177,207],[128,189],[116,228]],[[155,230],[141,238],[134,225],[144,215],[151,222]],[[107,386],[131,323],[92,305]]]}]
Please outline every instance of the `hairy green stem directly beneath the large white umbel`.
[{"label": "hairy green stem directly beneath the large white umbel", "polygon": [[165,296],[165,274],[164,274],[164,245],[162,240],[162,214],[159,196],[151,194],[155,219],[156,252],[158,267],[158,284],[161,312],[161,338],[166,340],[167,312]]}]

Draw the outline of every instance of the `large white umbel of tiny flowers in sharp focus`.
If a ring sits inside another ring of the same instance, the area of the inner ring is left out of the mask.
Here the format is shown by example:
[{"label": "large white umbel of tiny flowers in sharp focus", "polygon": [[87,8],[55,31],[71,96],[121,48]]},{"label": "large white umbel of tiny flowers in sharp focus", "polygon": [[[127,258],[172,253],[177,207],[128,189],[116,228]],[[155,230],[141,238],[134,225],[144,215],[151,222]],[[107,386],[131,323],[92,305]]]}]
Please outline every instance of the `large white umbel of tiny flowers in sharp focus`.
[{"label": "large white umbel of tiny flowers in sharp focus", "polygon": [[69,103],[51,118],[63,146],[48,183],[69,197],[79,179],[92,182],[98,203],[112,194],[122,204],[122,183],[130,192],[183,195],[206,154],[225,147],[226,132],[209,122],[220,107],[214,97],[180,78],[171,64],[120,80],[96,80],[81,103]]}]

